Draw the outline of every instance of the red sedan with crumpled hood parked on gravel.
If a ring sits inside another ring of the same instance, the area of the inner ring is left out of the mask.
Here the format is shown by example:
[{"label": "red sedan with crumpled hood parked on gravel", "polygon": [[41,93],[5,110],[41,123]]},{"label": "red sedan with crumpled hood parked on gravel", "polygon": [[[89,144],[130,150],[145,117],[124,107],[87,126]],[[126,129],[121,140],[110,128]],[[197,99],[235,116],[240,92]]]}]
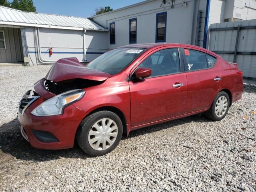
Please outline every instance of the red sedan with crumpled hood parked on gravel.
[{"label": "red sedan with crumpled hood parked on gravel", "polygon": [[35,148],[112,151],[131,130],[205,113],[222,120],[242,98],[242,72],[186,44],[116,48],[86,66],[58,60],[20,101],[22,135]]}]

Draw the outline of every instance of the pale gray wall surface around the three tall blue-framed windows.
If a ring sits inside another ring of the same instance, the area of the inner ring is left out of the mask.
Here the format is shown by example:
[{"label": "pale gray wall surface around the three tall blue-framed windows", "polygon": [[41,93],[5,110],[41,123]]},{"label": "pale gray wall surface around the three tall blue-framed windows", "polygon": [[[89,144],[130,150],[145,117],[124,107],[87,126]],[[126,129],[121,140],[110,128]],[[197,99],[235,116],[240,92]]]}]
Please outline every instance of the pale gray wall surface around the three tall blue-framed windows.
[{"label": "pale gray wall surface around the three tall blue-framed windows", "polygon": [[[193,40],[191,41],[192,32],[194,32],[193,38],[195,37],[197,10],[193,20],[194,1],[187,0],[187,7],[182,6],[182,2],[184,1],[175,0],[174,8],[171,8],[171,4],[162,4],[162,0],[149,1],[145,4],[96,16],[93,20],[108,29],[109,24],[115,22],[116,44],[110,45],[108,36],[108,48],[113,49],[129,44],[129,19],[131,18],[137,18],[137,43],[154,43],[156,14],[167,12],[166,42],[190,44],[193,42]],[[196,9],[198,8],[205,13],[206,1],[198,0]]]}]

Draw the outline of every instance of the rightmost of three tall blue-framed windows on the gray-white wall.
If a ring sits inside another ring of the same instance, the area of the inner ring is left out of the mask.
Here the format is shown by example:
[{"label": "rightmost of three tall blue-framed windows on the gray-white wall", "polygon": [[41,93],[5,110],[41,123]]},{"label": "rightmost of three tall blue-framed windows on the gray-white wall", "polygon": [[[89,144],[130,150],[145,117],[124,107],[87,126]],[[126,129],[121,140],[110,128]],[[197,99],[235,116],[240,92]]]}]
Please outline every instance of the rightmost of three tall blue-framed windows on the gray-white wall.
[{"label": "rightmost of three tall blue-framed windows on the gray-white wall", "polygon": [[166,40],[166,18],[167,12],[156,14],[156,43]]}]

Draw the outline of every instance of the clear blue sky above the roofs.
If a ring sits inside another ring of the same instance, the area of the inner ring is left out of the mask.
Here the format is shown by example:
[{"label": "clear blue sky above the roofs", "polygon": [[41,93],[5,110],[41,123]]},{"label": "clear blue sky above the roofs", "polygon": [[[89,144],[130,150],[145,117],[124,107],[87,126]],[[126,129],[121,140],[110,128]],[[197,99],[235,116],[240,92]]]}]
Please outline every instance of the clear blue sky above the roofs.
[{"label": "clear blue sky above the roofs", "polygon": [[[36,12],[67,16],[90,17],[96,7],[122,8],[143,0],[33,0]],[[12,2],[12,0],[10,0]]]}]

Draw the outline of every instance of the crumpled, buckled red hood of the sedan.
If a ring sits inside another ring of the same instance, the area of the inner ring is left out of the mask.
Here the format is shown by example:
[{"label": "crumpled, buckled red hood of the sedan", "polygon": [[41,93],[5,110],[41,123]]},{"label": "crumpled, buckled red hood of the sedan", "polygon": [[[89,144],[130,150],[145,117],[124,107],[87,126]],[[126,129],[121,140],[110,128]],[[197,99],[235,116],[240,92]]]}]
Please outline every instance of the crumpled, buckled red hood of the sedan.
[{"label": "crumpled, buckled red hood of the sedan", "polygon": [[108,73],[85,68],[76,57],[58,60],[45,76],[47,80],[54,82],[75,78],[104,81],[109,77],[111,75]]}]

